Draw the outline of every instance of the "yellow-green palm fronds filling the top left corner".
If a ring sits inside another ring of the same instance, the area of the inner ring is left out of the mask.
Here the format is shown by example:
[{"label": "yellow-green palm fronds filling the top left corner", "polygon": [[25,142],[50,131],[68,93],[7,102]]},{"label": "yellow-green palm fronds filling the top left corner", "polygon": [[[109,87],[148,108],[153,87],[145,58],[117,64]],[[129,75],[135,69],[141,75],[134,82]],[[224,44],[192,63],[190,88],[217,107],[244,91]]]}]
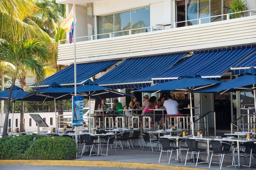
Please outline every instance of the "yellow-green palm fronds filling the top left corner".
[{"label": "yellow-green palm fronds filling the top left corner", "polygon": [[34,36],[32,27],[23,20],[38,9],[28,0],[0,0],[0,38],[10,42]]}]

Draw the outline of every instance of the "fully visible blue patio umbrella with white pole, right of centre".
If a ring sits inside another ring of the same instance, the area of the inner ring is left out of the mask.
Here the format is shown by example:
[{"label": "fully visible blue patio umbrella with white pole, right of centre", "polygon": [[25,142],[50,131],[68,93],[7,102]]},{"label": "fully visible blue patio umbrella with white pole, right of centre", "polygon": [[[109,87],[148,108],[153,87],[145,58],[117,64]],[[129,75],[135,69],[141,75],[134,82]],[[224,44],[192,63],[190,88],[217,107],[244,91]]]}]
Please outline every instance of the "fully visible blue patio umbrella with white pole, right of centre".
[{"label": "fully visible blue patio umbrella with white pole, right of centre", "polygon": [[[196,75],[192,72],[187,72],[184,75],[181,75],[178,79],[164,82],[158,85],[153,85],[147,88],[142,88],[139,90],[136,90],[134,92],[147,92],[147,93],[158,93],[158,92],[169,92],[169,91],[185,91],[189,92],[190,95],[190,114],[191,118],[193,118],[192,114],[192,99],[191,99],[191,93],[193,89],[198,88],[205,88],[207,86],[215,85],[220,83],[220,81],[211,80],[211,79],[204,79],[199,75]],[[191,119],[192,122],[192,134],[194,136],[194,125],[193,125],[193,119]]]}]

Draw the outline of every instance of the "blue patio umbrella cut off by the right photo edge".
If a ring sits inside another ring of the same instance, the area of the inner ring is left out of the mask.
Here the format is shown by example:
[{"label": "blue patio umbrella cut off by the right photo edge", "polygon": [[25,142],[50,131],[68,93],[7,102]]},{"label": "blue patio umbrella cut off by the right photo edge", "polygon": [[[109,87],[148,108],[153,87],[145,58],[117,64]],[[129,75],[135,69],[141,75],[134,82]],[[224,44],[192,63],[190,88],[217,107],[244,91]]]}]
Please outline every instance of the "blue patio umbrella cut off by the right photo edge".
[{"label": "blue patio umbrella cut off by the right photo edge", "polygon": [[253,90],[254,107],[256,111],[256,68],[249,68],[247,71],[240,74],[240,77],[226,82],[221,82],[218,85],[198,89],[193,93],[227,93],[235,91]]}]

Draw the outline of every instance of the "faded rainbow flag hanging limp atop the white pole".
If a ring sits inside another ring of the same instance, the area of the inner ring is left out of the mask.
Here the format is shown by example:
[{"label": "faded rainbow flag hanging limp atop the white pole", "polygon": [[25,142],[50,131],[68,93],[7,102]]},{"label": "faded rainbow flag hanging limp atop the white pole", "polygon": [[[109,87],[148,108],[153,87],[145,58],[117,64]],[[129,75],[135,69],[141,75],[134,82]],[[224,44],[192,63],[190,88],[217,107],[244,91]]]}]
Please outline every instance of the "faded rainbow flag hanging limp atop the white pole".
[{"label": "faded rainbow flag hanging limp atop the white pole", "polygon": [[[75,19],[76,22],[76,19]],[[74,32],[74,17],[73,17],[73,7],[68,14],[67,18],[61,23],[61,28],[63,28],[67,34],[69,34],[69,42],[72,43],[73,32]]]}]

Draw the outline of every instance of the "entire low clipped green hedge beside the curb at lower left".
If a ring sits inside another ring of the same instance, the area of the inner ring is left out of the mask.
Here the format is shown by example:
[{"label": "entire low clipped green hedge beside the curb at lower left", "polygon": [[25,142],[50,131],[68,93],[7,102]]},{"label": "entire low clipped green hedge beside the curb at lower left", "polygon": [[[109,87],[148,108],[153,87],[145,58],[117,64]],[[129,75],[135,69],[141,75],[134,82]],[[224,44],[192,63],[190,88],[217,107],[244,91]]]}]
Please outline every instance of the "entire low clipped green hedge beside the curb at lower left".
[{"label": "entire low clipped green hedge beside the curb at lower left", "polygon": [[[36,140],[33,141],[34,137]],[[76,142],[65,137],[21,135],[0,138],[0,159],[72,159]]]}]

